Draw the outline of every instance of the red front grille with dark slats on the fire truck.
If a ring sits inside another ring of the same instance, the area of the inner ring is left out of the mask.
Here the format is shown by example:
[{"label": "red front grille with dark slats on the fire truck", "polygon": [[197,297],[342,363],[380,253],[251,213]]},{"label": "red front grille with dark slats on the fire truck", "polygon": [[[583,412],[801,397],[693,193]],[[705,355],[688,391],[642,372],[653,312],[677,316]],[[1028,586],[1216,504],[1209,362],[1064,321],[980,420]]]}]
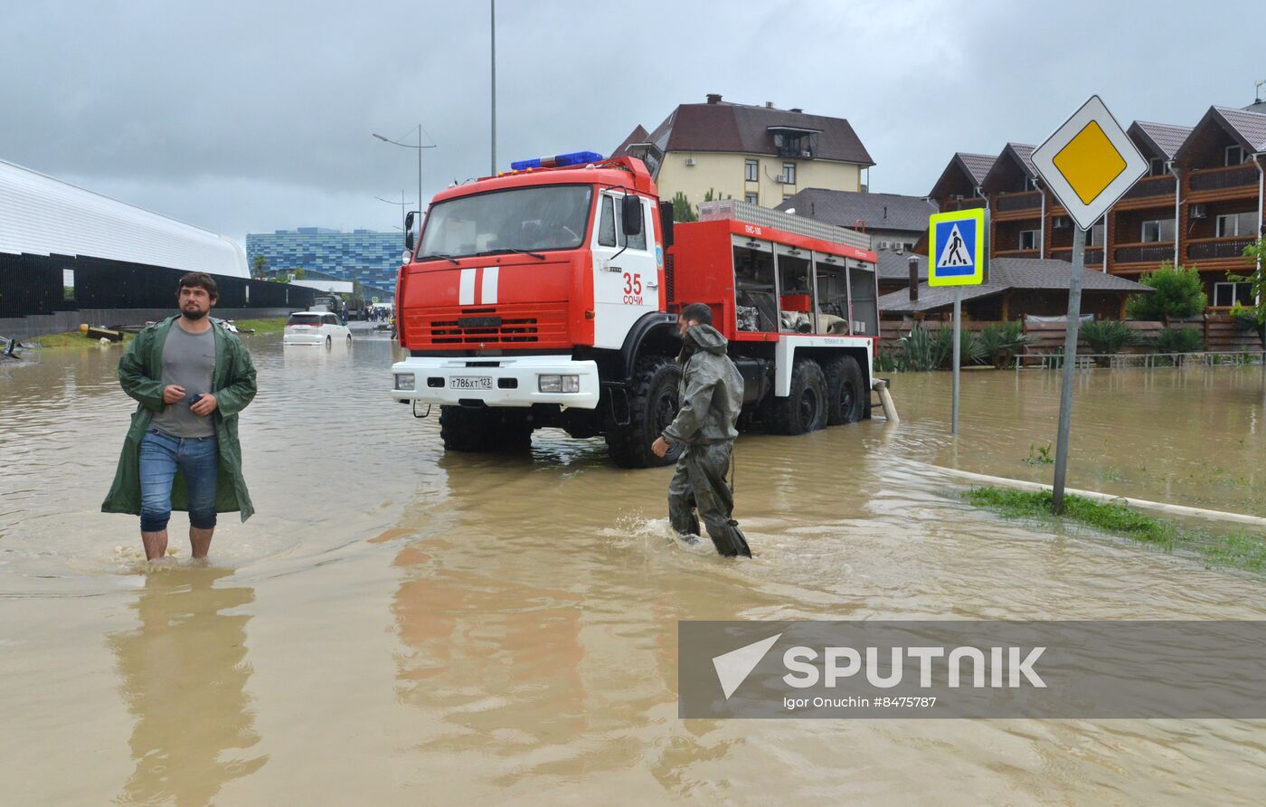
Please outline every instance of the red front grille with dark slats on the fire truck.
[{"label": "red front grille with dark slats on the fire truck", "polygon": [[406,323],[410,342],[436,347],[496,347],[565,343],[565,303],[453,308]]}]

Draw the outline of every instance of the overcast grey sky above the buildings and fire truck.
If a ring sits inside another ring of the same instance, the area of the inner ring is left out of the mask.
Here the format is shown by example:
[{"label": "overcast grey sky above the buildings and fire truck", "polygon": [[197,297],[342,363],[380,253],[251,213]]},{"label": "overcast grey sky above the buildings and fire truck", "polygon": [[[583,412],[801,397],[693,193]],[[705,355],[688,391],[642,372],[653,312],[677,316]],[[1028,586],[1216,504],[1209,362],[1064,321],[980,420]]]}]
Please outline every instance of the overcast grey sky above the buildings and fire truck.
[{"label": "overcast grey sky above the buildings and fire truck", "polygon": [[[955,151],[1036,144],[1093,92],[1123,125],[1251,103],[1266,49],[1236,8],[500,0],[498,163],[609,153],[720,92],[847,118],[871,190],[925,194]],[[425,127],[427,199],[489,170],[487,0],[5,0],[3,19],[0,160],[239,241],[396,226],[375,196],[417,198],[415,152],[373,132]]]}]

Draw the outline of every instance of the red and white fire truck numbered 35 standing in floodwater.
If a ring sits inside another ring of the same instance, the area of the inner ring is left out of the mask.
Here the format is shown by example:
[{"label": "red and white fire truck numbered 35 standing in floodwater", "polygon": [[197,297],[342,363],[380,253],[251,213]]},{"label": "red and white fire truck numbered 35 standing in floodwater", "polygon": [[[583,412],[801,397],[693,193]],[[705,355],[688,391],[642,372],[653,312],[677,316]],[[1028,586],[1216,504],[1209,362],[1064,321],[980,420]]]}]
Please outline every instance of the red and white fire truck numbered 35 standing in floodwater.
[{"label": "red and white fire truck numbered 35 standing in floodwater", "polygon": [[[741,427],[799,435],[870,417],[879,333],[868,237],[739,201],[674,224],[641,160],[514,163],[449,187],[400,267],[409,357],[391,397],[439,407],[451,451],[603,436],[625,467],[677,410],[676,313],[713,308],[746,381]],[[409,229],[406,227],[406,229]],[[425,410],[419,414],[419,404]]]}]

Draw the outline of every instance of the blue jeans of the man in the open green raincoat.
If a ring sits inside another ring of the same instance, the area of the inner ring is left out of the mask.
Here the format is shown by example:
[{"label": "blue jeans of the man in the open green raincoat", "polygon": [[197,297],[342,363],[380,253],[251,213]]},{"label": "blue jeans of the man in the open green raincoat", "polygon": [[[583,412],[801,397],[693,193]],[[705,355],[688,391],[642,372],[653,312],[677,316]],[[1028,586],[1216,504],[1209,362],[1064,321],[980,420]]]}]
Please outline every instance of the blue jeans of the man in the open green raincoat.
[{"label": "blue jeans of the man in the open green raincoat", "polygon": [[157,428],[141,438],[141,531],[162,532],[171,518],[171,483],[176,469],[189,490],[189,524],[215,527],[215,484],[220,452],[215,437],[172,437]]}]

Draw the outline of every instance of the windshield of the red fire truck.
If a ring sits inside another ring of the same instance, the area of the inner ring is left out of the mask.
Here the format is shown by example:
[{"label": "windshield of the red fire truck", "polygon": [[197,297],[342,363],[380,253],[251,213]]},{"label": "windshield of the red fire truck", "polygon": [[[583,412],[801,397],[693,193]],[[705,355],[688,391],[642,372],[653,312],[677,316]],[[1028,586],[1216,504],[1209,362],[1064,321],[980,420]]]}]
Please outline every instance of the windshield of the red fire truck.
[{"label": "windshield of the red fire truck", "polygon": [[430,207],[418,260],[481,252],[575,250],[589,229],[589,185],[515,187]]}]

